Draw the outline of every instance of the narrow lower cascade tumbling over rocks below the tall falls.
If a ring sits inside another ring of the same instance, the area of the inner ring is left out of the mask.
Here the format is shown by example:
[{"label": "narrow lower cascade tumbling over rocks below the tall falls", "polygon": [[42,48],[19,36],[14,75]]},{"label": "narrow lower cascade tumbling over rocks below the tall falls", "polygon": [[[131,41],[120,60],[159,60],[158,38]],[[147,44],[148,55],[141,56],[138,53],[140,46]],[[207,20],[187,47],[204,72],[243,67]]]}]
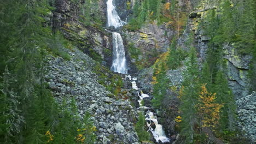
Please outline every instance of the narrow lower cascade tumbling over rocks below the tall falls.
[{"label": "narrow lower cascade tumbling over rocks below the tall falls", "polygon": [[[156,140],[156,142],[162,142],[162,143],[165,143],[165,142],[170,142],[170,139],[168,137],[166,137],[165,133],[164,133],[164,130],[162,128],[162,125],[158,123],[158,119],[156,117],[156,113],[152,112],[149,110],[149,107],[146,107],[146,106],[143,106],[142,105],[142,100],[144,98],[148,98],[149,95],[148,94],[144,94],[141,90],[139,90],[139,88],[137,87],[137,84],[136,84],[136,78],[132,78],[131,79],[131,76],[126,76],[126,77],[129,77],[129,80],[132,82],[132,88],[133,89],[136,89],[138,90],[137,93],[139,95],[139,100],[138,100],[138,103],[139,103],[139,108],[143,108],[143,109],[148,109],[145,117],[146,117],[146,121],[147,121],[147,126],[148,126],[148,131],[151,131],[153,136],[154,136],[154,139]],[[141,94],[139,94],[139,91],[141,92]],[[152,128],[151,125],[152,123],[154,123],[155,125],[155,128]]]}]

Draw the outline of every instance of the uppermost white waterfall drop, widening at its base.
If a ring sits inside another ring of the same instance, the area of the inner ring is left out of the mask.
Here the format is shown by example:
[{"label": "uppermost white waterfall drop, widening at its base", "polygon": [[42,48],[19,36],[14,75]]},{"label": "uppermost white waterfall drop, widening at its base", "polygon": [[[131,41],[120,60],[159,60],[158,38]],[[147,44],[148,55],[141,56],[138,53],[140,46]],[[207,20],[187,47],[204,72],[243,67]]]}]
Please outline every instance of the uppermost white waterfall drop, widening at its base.
[{"label": "uppermost white waterfall drop, widening at its base", "polygon": [[120,19],[117,11],[115,10],[113,0],[107,1],[107,14],[108,14],[107,27],[114,26],[115,28],[118,28],[123,26],[126,23]]}]

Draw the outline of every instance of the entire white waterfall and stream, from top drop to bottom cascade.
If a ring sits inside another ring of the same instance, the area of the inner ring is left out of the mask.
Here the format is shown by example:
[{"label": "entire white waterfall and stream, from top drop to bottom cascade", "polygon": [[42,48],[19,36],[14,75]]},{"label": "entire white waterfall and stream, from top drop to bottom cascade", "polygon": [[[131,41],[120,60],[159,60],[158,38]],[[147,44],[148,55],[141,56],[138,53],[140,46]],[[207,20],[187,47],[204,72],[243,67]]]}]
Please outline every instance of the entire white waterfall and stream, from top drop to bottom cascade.
[{"label": "entire white waterfall and stream, from top drop to bottom cascade", "polygon": [[[107,1],[107,27],[113,26],[115,28],[119,28],[123,25],[125,25],[126,22],[122,21],[115,10],[115,5],[113,4],[113,0]],[[123,39],[121,35],[117,32],[112,32],[112,43],[113,43],[113,61],[112,61],[112,67],[110,68],[114,72],[120,73],[120,74],[127,74],[127,64],[126,64],[126,58],[125,58],[125,49],[123,44]],[[148,125],[148,130],[152,132],[156,142],[169,142],[170,139],[165,136],[164,130],[162,129],[162,125],[158,123],[158,119],[156,117],[156,114],[149,110],[148,107],[142,105],[142,100],[144,98],[149,97],[148,94],[144,94],[138,87],[136,77],[131,77],[130,75],[126,75],[126,78],[128,77],[129,80],[132,83],[132,88],[135,89],[139,95],[138,103],[139,108],[148,109],[146,113],[146,121]],[[141,94],[139,94],[141,93]],[[154,123],[155,128],[152,128],[151,125]]]}]

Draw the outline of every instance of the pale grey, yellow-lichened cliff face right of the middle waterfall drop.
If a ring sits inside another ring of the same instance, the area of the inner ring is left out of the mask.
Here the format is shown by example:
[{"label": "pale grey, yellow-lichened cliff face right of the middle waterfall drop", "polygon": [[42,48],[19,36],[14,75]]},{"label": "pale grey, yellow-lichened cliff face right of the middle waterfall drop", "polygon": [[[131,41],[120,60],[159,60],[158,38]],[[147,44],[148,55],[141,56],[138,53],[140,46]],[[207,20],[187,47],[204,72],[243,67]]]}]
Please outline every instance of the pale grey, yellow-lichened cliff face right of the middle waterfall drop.
[{"label": "pale grey, yellow-lichened cliff face right of the middle waterfall drop", "polygon": [[133,63],[167,51],[174,32],[165,25],[158,26],[155,23],[148,23],[135,32],[123,29],[127,43],[139,50],[139,53],[136,53],[137,57],[131,59]]}]

